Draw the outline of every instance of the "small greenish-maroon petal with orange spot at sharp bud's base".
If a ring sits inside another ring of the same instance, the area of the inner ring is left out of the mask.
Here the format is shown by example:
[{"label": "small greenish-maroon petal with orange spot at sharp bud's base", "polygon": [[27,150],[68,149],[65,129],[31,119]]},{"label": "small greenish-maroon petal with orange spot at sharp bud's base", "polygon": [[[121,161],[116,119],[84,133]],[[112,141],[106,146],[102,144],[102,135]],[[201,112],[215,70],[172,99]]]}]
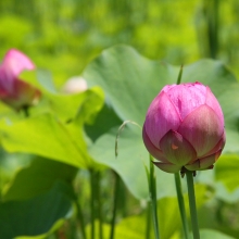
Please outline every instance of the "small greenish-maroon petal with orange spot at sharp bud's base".
[{"label": "small greenish-maroon petal with orange spot at sharp bud's base", "polygon": [[197,159],[193,147],[184,137],[169,130],[160,141],[160,149],[164,156],[173,164],[184,166]]}]

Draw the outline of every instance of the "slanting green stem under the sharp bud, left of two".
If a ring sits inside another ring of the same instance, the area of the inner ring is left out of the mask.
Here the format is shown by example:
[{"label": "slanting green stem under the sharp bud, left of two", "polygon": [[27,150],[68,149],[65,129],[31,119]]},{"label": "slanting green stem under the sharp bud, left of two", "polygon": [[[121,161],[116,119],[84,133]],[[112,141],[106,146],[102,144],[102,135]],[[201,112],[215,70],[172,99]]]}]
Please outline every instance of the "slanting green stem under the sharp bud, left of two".
[{"label": "slanting green stem under the sharp bud, left of two", "polygon": [[188,222],[187,222],[185,200],[184,200],[184,194],[183,194],[183,190],[181,190],[181,180],[180,180],[179,173],[174,174],[174,178],[175,178],[177,201],[178,201],[178,206],[179,206],[179,211],[180,211],[180,217],[181,217],[181,223],[183,223],[183,227],[184,227],[185,239],[189,239]]}]

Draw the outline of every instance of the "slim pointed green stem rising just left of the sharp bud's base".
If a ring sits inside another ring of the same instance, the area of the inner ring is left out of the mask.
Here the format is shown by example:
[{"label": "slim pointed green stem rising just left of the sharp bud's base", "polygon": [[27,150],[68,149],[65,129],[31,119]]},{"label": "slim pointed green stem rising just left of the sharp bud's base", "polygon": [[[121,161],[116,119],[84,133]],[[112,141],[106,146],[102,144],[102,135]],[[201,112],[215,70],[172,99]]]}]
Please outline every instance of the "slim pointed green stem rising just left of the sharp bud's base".
[{"label": "slim pointed green stem rising just left of the sharp bud's base", "polygon": [[158,205],[156,205],[156,178],[155,178],[154,165],[152,161],[153,159],[150,155],[150,173],[149,173],[150,204],[151,204],[151,214],[152,214],[152,221],[153,221],[154,236],[155,236],[155,239],[160,239]]}]

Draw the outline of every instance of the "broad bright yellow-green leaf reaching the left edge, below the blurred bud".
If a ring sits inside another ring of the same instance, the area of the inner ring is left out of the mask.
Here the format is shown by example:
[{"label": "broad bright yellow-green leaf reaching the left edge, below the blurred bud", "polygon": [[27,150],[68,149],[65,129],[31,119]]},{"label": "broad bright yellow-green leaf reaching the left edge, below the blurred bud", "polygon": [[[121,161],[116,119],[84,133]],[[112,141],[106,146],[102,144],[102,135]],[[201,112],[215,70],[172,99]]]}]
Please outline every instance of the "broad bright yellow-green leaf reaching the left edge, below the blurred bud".
[{"label": "broad bright yellow-green leaf reaching the left edge, below the blurred bud", "polygon": [[38,154],[77,167],[87,167],[89,164],[80,134],[76,142],[68,134],[66,125],[50,114],[30,117],[13,125],[2,123],[0,130],[2,146],[9,152]]}]

